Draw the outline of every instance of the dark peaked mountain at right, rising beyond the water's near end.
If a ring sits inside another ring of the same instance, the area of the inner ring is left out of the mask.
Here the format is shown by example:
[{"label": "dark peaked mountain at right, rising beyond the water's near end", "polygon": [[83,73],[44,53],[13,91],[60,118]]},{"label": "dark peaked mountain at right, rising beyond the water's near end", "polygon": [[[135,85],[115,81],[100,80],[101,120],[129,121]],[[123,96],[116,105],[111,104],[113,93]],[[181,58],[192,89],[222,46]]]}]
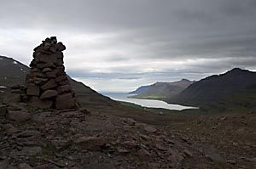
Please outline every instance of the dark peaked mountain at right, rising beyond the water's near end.
[{"label": "dark peaked mountain at right, rising beyond the water's near end", "polygon": [[[255,96],[256,72],[235,68],[224,74],[208,76],[195,82],[183,92],[166,100],[168,103],[174,104],[216,106],[220,104],[253,104]],[[247,102],[244,102],[244,99]]]}]

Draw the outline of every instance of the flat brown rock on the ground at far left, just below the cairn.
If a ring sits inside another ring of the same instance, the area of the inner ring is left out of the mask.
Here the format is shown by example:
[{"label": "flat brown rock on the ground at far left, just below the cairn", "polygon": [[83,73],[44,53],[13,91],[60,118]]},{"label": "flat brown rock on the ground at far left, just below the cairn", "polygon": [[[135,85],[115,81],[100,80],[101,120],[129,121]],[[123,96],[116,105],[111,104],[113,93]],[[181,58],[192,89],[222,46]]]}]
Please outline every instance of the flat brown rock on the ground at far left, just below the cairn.
[{"label": "flat brown rock on the ground at far left, just below the cairn", "polygon": [[7,115],[6,115],[7,119],[11,120],[11,121],[18,121],[18,122],[22,122],[22,121],[28,121],[31,118],[31,115],[28,114],[25,111],[20,111],[20,110],[10,110]]}]

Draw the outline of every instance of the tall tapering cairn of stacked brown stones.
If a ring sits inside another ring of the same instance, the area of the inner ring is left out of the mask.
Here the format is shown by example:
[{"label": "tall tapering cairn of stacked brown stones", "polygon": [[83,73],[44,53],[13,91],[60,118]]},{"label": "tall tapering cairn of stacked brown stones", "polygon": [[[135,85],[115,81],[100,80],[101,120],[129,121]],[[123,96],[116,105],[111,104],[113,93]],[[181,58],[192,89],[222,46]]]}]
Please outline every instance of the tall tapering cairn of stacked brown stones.
[{"label": "tall tapering cairn of stacked brown stones", "polygon": [[46,38],[34,48],[30,73],[26,76],[28,104],[40,109],[73,109],[76,107],[63,62],[66,47],[56,37]]}]

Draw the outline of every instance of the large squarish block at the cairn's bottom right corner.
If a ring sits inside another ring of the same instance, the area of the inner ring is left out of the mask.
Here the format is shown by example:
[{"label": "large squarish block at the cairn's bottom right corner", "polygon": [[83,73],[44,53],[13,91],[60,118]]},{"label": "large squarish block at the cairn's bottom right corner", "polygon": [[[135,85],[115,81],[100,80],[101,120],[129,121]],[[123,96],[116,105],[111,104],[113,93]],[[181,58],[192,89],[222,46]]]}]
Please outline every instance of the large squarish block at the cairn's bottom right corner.
[{"label": "large squarish block at the cairn's bottom right corner", "polygon": [[58,110],[72,109],[75,107],[75,100],[71,93],[63,93],[55,99],[55,107]]}]

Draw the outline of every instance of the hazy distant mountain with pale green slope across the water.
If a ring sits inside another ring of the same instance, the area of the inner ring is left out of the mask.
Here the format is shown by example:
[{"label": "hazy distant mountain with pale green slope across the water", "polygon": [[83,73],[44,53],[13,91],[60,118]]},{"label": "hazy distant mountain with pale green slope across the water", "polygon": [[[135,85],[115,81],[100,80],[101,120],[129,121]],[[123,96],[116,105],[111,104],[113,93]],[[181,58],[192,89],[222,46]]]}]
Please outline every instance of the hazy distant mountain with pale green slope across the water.
[{"label": "hazy distant mountain with pale green slope across the water", "polygon": [[187,79],[182,79],[177,82],[156,82],[143,88],[139,87],[135,92],[133,92],[136,93],[139,91],[138,94],[133,97],[138,99],[165,99],[182,92],[192,83],[193,82]]}]

